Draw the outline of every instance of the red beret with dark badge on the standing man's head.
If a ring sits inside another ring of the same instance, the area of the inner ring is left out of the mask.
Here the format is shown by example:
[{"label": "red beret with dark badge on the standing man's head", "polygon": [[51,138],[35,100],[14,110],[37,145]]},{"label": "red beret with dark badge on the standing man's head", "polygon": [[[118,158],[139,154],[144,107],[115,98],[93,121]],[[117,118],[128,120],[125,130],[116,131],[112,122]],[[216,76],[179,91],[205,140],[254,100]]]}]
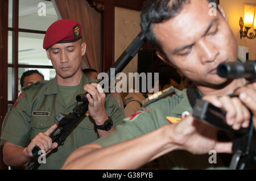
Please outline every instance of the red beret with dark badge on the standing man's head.
[{"label": "red beret with dark badge on the standing man's head", "polygon": [[71,19],[61,19],[52,23],[44,36],[43,48],[56,43],[71,43],[82,38],[81,24]]}]

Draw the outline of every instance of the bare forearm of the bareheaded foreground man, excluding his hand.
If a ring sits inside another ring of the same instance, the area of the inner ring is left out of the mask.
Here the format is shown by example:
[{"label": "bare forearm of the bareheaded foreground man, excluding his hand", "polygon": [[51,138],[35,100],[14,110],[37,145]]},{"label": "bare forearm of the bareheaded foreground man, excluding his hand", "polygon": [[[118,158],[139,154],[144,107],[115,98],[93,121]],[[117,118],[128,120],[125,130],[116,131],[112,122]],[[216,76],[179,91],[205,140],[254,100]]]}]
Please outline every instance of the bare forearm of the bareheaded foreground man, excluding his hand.
[{"label": "bare forearm of the bareheaded foreground man, excluding his hand", "polygon": [[62,169],[137,169],[175,149],[169,144],[166,126],[133,140],[102,148],[89,144],[75,150]]}]

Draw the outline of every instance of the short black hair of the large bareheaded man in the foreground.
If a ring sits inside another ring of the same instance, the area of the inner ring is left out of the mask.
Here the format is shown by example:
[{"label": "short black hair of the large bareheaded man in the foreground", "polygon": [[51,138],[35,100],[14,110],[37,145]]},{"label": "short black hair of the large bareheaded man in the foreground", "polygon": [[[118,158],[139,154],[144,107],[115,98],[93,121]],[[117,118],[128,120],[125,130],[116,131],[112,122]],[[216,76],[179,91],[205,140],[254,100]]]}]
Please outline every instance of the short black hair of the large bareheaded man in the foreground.
[{"label": "short black hair of the large bareheaded man in the foreground", "polygon": [[[216,3],[216,0],[206,0],[209,3]],[[141,11],[141,29],[146,39],[160,52],[164,53],[162,47],[154,35],[152,24],[163,23],[174,18],[183,9],[185,3],[191,0],[147,0],[144,2]],[[217,10],[218,9],[217,6]]]}]

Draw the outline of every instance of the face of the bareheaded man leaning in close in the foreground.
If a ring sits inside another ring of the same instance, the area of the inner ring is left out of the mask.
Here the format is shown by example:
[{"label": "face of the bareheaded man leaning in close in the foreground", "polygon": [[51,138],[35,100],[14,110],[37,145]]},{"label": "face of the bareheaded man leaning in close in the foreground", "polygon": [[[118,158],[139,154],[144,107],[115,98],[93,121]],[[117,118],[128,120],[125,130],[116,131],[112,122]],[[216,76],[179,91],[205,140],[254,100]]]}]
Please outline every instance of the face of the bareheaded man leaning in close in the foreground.
[{"label": "face of the bareheaded man leaning in close in the foreground", "polygon": [[158,52],[160,58],[196,85],[214,87],[226,82],[216,68],[221,62],[237,60],[237,43],[228,21],[219,11],[210,16],[208,5],[208,1],[192,0],[174,18],[153,25],[153,31],[164,52]]}]

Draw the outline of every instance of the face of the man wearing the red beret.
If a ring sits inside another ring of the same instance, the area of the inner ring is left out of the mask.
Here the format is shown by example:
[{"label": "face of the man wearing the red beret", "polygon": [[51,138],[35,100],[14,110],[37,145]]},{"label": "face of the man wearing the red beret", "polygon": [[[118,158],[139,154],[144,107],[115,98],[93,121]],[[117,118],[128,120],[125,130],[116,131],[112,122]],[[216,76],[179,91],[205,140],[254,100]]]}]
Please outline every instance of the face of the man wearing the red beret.
[{"label": "face of the man wearing the red beret", "polygon": [[86,44],[81,44],[80,41],[58,43],[47,50],[47,56],[56,70],[56,75],[64,79],[72,77],[81,70],[85,50]]}]

